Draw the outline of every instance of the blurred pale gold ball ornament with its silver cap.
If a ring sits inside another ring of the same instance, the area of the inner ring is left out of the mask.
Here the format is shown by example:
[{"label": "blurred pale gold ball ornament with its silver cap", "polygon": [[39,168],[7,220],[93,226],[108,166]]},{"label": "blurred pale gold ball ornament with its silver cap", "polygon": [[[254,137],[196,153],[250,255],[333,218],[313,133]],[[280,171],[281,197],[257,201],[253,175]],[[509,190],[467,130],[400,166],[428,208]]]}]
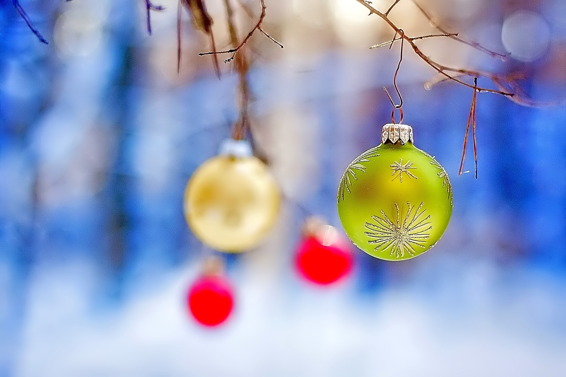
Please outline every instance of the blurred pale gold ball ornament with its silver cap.
[{"label": "blurred pale gold ball ornament with its silver cap", "polygon": [[185,217],[204,244],[238,253],[258,245],[271,229],[280,193],[267,166],[246,141],[229,140],[204,162],[185,189]]}]

